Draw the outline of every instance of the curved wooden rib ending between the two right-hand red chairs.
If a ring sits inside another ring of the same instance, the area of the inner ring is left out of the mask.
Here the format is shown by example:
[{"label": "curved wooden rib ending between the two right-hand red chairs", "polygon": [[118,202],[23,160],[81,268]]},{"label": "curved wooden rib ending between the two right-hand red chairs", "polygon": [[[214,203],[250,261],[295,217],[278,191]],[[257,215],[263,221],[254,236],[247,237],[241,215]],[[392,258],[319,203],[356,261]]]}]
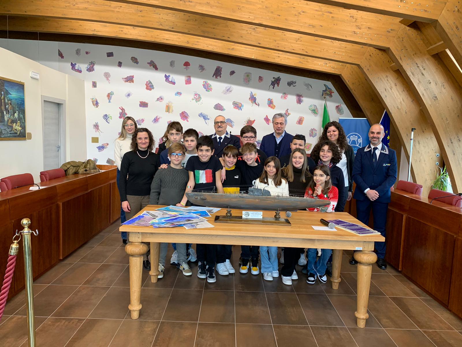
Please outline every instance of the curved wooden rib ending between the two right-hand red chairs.
[{"label": "curved wooden rib ending between the two right-hand red chairs", "polygon": [[413,180],[430,191],[439,153],[433,129],[400,72],[392,71],[384,50],[369,48],[359,68],[387,110],[409,160],[411,128],[417,128],[413,145]]}]

